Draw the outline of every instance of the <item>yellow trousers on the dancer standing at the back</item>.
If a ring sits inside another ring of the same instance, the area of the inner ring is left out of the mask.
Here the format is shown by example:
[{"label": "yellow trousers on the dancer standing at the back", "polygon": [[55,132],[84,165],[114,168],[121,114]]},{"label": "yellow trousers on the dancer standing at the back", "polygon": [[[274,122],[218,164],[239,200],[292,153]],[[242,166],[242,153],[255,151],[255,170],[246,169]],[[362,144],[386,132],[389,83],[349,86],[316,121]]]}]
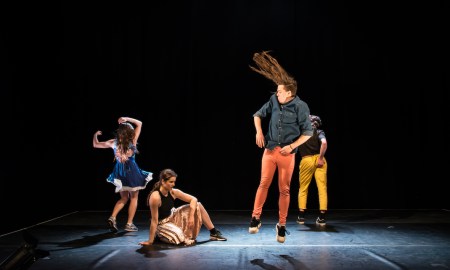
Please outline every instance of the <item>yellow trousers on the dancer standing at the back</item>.
[{"label": "yellow trousers on the dancer standing at the back", "polygon": [[317,158],[319,155],[312,155],[302,157],[300,161],[300,188],[298,190],[298,208],[306,209],[306,202],[308,199],[308,187],[311,183],[312,177],[316,180],[317,190],[319,192],[319,210],[328,209],[328,194],[327,194],[327,167],[328,163],[324,158],[325,164],[322,168],[317,168]]}]

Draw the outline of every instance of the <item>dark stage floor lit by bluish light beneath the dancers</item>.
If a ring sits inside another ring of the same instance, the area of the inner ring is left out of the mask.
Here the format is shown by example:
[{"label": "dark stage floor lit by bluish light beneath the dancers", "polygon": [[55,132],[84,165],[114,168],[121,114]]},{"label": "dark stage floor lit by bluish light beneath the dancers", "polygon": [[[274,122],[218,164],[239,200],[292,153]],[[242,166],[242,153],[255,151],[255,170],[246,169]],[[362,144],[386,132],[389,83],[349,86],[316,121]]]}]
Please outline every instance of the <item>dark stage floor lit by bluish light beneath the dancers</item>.
[{"label": "dark stage floor lit by bluish light beneath the dancers", "polygon": [[210,241],[203,227],[195,246],[147,248],[138,243],[148,211],[136,215],[138,232],[116,234],[109,212],[68,213],[1,235],[0,269],[450,269],[448,210],[330,210],[324,228],[311,212],[305,225],[289,214],[283,244],[276,211],[264,211],[257,234],[248,233],[250,211],[209,211],[228,241]]}]

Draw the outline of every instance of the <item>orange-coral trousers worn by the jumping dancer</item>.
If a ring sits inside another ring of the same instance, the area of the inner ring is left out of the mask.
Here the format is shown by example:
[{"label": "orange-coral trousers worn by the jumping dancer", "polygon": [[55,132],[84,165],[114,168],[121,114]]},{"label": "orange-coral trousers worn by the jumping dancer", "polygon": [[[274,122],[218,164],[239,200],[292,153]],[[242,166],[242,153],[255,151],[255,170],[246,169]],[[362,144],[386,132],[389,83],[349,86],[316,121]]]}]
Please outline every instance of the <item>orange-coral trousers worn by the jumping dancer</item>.
[{"label": "orange-coral trousers worn by the jumping dancer", "polygon": [[256,191],[252,216],[260,218],[275,170],[278,168],[278,190],[280,193],[278,197],[278,223],[286,225],[289,202],[291,200],[290,186],[295,166],[295,154],[283,156],[280,150],[280,147],[275,147],[273,150],[264,150],[261,162],[261,181]]}]

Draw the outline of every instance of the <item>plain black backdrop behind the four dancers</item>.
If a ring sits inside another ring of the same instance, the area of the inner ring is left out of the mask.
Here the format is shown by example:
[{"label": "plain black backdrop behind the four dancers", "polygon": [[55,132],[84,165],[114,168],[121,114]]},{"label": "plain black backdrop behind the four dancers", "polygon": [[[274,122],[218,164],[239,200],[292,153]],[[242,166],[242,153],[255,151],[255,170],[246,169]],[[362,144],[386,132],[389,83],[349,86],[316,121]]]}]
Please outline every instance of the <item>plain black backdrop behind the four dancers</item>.
[{"label": "plain black backdrop behind the four dancers", "polygon": [[[92,136],[121,116],[143,121],[137,162],[155,179],[170,167],[207,209],[250,218],[252,115],[276,90],[249,68],[262,50],[323,120],[330,210],[449,206],[448,1],[180,2],[2,4],[2,232],[112,210],[112,150]],[[298,168],[292,209],[297,192]],[[275,178],[265,209],[277,200]]]}]

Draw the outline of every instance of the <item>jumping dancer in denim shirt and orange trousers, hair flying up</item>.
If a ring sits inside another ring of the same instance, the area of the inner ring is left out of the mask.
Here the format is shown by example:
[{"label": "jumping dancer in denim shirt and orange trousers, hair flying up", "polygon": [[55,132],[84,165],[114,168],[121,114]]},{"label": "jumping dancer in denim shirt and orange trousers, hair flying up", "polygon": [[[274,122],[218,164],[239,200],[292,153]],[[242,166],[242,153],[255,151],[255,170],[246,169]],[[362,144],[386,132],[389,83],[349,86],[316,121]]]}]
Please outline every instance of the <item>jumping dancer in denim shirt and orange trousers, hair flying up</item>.
[{"label": "jumping dancer in denim shirt and orange trousers, hair flying up", "polygon": [[[277,92],[253,115],[256,144],[265,149],[249,233],[257,233],[261,227],[262,208],[275,170],[278,168],[279,217],[275,229],[277,241],[284,243],[295,153],[297,147],[313,135],[313,129],[309,119],[309,107],[296,95],[296,80],[268,52],[255,53],[253,60],[259,69],[252,66],[250,68],[272,80],[277,85]],[[261,119],[268,115],[270,115],[269,130],[264,136]]]}]

